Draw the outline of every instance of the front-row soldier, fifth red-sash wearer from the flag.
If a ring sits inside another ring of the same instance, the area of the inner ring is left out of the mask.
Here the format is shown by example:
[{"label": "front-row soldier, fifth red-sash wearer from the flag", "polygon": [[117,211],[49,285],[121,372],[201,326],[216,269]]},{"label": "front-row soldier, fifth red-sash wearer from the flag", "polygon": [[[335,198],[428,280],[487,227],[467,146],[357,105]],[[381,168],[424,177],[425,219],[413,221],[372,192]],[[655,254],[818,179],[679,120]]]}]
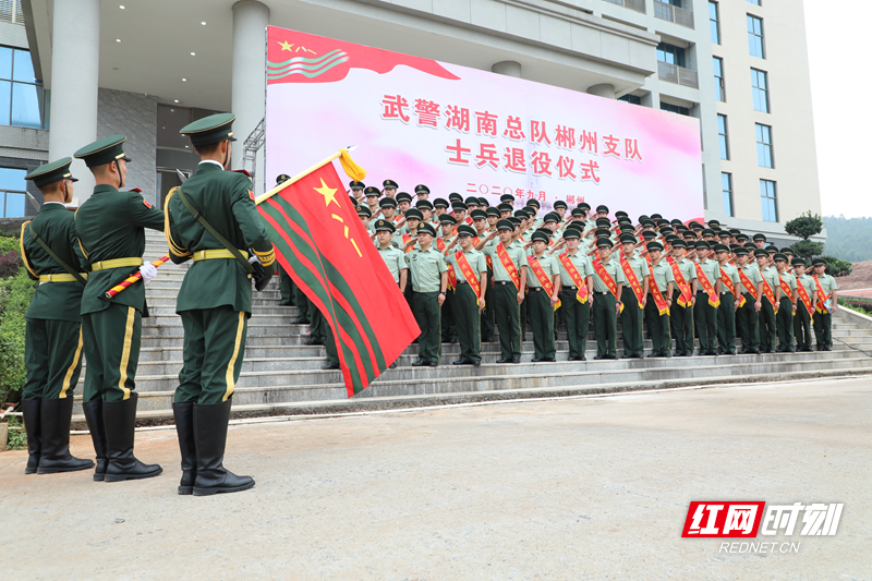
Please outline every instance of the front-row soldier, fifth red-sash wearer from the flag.
[{"label": "front-row soldier, fifth red-sash wearer from the flag", "polygon": [[[594,359],[618,359],[618,313],[623,285],[623,270],[617,261],[611,259],[611,240],[606,237],[596,239],[598,259],[593,263],[593,329],[596,335],[596,356]],[[605,276],[615,285],[615,291],[597,271],[597,263],[603,265]]]}]

